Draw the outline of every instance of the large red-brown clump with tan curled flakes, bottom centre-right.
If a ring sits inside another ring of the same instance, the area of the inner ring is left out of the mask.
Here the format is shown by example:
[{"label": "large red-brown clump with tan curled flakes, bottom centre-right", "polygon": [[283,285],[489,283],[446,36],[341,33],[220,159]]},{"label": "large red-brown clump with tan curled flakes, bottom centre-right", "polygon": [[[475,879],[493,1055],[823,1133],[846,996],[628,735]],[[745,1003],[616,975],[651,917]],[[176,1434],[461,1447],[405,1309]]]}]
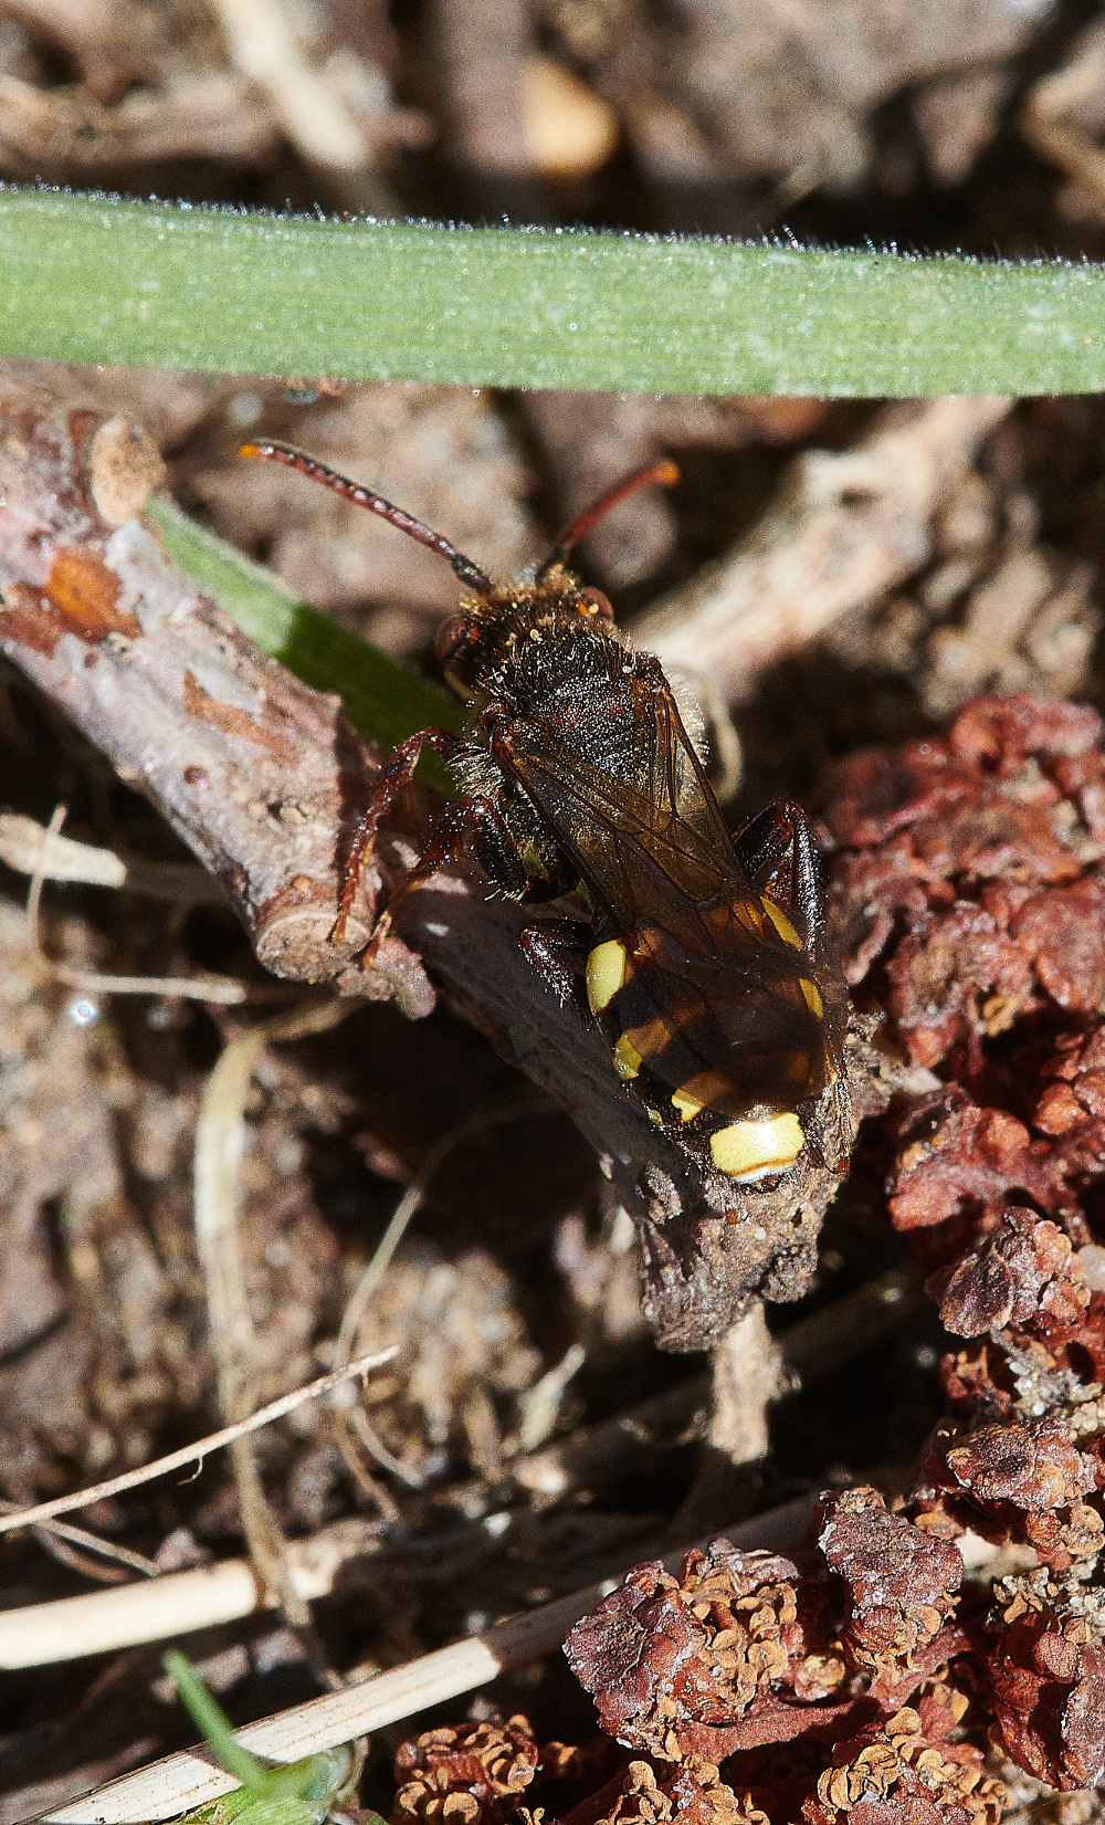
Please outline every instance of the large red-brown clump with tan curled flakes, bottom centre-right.
[{"label": "large red-brown clump with tan curled flakes, bottom centre-right", "polygon": [[[1001,1787],[961,1739],[968,1694],[946,1672],[970,1650],[955,1621],[961,1579],[959,1551],[875,1489],[822,1496],[817,1549],[797,1560],[715,1540],[686,1555],[678,1579],[636,1566],[565,1652],[602,1726],[647,1745],[649,1763],[631,1763],[571,1825],[686,1812],[686,1799],[667,1810],[676,1787],[664,1763],[707,1788],[711,1818],[996,1820]],[[707,1725],[729,1798],[702,1776]]]}]

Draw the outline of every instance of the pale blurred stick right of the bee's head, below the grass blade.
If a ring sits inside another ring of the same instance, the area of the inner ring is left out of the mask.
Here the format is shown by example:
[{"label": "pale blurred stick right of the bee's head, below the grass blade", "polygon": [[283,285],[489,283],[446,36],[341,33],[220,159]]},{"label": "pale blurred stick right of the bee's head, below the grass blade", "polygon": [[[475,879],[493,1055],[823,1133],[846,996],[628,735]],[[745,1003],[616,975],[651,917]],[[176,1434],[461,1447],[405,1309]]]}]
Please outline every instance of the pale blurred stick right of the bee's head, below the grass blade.
[{"label": "pale blurred stick right of the bee's head, below the grass blade", "polygon": [[852,451],[810,451],[749,538],[635,628],[666,666],[746,697],[764,666],[877,600],[932,553],[932,516],[1012,400],[892,405]]}]

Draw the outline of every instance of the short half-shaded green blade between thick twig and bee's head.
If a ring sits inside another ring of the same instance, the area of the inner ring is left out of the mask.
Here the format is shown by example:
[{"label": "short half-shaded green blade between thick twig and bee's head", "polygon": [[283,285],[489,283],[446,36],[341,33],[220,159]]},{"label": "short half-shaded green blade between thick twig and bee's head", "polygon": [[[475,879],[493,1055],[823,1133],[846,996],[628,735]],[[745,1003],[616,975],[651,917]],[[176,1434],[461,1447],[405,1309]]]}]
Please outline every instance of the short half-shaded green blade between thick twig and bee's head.
[{"label": "short half-shaded green blade between thick twig and bee's head", "polygon": [[[148,511],[177,564],[212,591],[243,633],[305,684],[337,692],[350,721],[385,752],[429,725],[454,732],[463,726],[465,714],[454,697],[297,600],[270,571],[197,526],[175,502],[159,496]],[[429,752],[419,763],[419,777],[441,792],[454,790]]]}]

